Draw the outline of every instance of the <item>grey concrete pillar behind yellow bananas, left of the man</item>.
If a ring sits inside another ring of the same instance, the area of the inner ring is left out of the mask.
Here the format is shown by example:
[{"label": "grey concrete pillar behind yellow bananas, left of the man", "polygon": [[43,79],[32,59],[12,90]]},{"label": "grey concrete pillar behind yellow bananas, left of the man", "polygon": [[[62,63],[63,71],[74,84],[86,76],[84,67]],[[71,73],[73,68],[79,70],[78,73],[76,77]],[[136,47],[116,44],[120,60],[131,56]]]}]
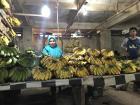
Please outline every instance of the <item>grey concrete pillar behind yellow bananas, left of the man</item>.
[{"label": "grey concrete pillar behind yellow bananas, left of the man", "polygon": [[108,29],[100,32],[100,49],[111,49],[111,31]]}]

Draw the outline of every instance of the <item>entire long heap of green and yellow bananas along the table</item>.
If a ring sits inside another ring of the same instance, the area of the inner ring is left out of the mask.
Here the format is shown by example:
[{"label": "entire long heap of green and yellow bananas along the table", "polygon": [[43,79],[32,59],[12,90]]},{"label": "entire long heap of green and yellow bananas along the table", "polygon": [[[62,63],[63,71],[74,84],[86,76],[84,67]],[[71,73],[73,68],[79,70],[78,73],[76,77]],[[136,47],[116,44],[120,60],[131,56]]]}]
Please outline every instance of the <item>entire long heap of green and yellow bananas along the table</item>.
[{"label": "entire long heap of green and yellow bananas along the table", "polygon": [[114,52],[76,47],[73,54],[60,59],[44,56],[36,66],[35,52],[28,49],[21,54],[15,47],[0,46],[0,82],[7,78],[12,81],[25,81],[31,76],[34,80],[52,78],[67,79],[89,75],[119,75],[139,71],[139,60],[116,60]]}]

